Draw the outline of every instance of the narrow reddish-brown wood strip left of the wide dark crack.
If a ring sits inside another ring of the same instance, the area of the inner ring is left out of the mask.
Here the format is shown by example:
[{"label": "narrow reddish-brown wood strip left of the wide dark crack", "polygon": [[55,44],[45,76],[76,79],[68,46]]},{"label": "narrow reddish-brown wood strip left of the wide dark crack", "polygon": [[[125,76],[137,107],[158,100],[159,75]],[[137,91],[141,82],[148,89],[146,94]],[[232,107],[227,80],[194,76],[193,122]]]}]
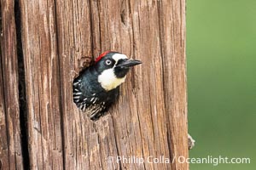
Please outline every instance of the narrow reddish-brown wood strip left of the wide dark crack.
[{"label": "narrow reddish-brown wood strip left of the wide dark crack", "polygon": [[1,0],[0,167],[23,169],[20,140],[15,2]]}]

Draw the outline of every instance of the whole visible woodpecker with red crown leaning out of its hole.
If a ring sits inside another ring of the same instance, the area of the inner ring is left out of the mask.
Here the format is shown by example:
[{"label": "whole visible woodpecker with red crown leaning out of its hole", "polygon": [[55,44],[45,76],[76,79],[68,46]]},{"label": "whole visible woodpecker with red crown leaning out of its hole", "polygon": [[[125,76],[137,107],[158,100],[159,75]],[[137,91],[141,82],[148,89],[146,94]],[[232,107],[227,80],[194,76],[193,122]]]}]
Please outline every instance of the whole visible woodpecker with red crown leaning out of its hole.
[{"label": "whole visible woodpecker with red crown leaning out of its hole", "polygon": [[131,66],[142,64],[125,54],[107,51],[99,55],[73,81],[73,102],[91,120],[102,116],[119,99],[119,86]]}]

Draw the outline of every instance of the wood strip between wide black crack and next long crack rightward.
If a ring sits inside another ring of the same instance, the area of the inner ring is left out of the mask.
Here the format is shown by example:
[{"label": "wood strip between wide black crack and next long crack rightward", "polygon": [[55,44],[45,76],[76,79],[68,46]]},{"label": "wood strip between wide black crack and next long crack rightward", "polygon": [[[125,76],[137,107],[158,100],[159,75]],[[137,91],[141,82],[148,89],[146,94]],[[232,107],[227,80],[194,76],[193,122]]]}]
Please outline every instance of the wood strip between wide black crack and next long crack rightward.
[{"label": "wood strip between wide black crack and next long crack rightward", "polygon": [[30,167],[63,169],[55,2],[20,0]]}]

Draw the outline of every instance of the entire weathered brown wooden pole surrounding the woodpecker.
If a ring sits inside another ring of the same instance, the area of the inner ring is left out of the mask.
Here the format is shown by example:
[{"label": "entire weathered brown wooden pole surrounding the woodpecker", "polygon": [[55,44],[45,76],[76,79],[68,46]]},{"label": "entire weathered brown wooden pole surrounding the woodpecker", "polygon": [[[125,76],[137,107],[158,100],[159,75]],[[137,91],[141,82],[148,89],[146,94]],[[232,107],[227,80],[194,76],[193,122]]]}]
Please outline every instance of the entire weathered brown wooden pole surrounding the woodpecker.
[{"label": "entire weathered brown wooden pole surrounding the woodpecker", "polygon": [[[185,0],[1,0],[1,17],[0,169],[189,169]],[[92,122],[72,83],[106,50],[143,65]]]}]

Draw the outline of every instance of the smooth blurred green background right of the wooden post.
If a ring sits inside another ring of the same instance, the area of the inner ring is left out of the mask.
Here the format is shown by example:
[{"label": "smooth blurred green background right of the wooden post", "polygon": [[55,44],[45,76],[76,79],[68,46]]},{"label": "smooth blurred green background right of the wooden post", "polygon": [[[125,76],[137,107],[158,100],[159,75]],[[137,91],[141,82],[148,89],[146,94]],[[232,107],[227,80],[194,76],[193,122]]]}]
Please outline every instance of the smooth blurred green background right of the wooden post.
[{"label": "smooth blurred green background right of the wooden post", "polygon": [[187,0],[190,157],[250,157],[256,169],[256,0]]}]

